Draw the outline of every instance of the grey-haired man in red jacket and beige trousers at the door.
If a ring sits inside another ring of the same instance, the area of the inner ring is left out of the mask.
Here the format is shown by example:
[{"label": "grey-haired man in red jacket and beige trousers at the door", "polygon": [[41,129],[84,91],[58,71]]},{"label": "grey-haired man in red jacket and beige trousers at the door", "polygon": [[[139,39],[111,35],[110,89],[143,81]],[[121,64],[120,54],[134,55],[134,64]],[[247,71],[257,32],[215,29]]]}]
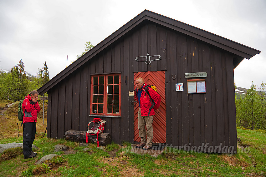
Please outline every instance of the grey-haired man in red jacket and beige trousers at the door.
[{"label": "grey-haired man in red jacket and beige trousers at the door", "polygon": [[[136,145],[136,147],[142,147],[144,150],[148,150],[152,146],[153,130],[152,130],[152,118],[154,115],[154,109],[158,109],[160,106],[161,96],[152,88],[148,88],[149,95],[145,91],[146,83],[141,77],[136,78],[135,86],[137,87],[135,98],[139,102],[139,113],[138,113],[138,129],[141,138],[141,143]],[[154,101],[154,106],[152,107],[152,101]],[[151,108],[151,109],[150,109]],[[147,128],[147,140],[146,140],[146,130]]]}]

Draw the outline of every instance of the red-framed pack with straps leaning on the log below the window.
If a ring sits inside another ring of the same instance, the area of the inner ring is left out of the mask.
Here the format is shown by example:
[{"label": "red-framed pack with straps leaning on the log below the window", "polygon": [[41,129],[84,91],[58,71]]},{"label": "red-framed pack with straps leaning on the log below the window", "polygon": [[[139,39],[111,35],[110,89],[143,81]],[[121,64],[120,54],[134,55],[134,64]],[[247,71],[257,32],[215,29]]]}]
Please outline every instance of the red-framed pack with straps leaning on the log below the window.
[{"label": "red-framed pack with straps leaning on the log below the window", "polygon": [[88,124],[88,131],[86,133],[86,143],[88,143],[89,135],[97,135],[97,147],[99,147],[98,135],[103,132],[105,126],[105,120],[101,120],[98,117],[95,117],[93,121]]}]

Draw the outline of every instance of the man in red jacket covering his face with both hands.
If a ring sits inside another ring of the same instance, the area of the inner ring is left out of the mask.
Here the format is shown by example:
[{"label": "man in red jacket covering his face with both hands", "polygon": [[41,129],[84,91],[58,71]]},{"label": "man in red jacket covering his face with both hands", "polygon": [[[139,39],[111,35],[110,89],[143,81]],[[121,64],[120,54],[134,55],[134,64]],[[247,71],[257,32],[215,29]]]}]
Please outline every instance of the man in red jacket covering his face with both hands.
[{"label": "man in red jacket covering his face with both hands", "polygon": [[32,158],[37,155],[36,152],[32,151],[32,144],[35,139],[36,133],[36,122],[37,113],[40,112],[41,108],[38,104],[38,91],[33,90],[25,96],[22,103],[23,110],[23,155],[24,159]]}]

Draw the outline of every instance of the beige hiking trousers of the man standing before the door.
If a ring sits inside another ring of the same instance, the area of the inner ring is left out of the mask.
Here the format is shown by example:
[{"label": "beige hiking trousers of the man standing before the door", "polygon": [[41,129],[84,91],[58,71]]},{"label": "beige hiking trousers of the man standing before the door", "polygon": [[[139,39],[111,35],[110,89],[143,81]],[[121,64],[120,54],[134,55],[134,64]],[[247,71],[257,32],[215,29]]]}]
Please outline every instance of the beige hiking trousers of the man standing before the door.
[{"label": "beige hiking trousers of the man standing before the door", "polygon": [[[141,108],[139,108],[139,134],[141,138],[141,143],[146,143],[147,146],[152,146],[152,137],[153,137],[153,131],[152,131],[152,118],[153,116],[141,116]],[[147,140],[146,140],[146,130],[145,125],[147,128]]]}]

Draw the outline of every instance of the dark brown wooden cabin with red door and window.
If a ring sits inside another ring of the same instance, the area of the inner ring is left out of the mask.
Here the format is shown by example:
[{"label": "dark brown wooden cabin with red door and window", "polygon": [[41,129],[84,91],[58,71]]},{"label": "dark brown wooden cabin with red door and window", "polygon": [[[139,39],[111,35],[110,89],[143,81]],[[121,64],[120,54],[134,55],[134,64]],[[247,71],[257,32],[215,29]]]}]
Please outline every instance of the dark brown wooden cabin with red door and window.
[{"label": "dark brown wooden cabin with red door and window", "polygon": [[[237,153],[233,70],[257,53],[145,10],[38,89],[40,95],[48,93],[47,137],[87,131],[88,123],[100,117],[115,143],[139,142],[132,92],[141,76],[161,95],[154,144],[206,152],[231,147]],[[202,145],[205,150],[199,150]]]}]

